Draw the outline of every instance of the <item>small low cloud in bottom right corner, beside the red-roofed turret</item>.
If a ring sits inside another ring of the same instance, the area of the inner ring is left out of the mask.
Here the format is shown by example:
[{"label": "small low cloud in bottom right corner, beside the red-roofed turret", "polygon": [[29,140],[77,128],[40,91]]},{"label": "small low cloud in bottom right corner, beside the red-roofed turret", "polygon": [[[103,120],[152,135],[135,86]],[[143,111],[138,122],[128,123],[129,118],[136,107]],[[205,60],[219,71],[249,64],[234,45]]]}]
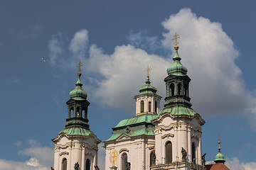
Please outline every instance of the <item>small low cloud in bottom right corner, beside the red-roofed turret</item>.
[{"label": "small low cloud in bottom right corner, beside the red-roofed turret", "polygon": [[256,162],[244,163],[244,162],[240,162],[237,157],[233,157],[233,158],[227,159],[227,162],[225,162],[225,165],[232,170],[254,170],[256,167]]}]

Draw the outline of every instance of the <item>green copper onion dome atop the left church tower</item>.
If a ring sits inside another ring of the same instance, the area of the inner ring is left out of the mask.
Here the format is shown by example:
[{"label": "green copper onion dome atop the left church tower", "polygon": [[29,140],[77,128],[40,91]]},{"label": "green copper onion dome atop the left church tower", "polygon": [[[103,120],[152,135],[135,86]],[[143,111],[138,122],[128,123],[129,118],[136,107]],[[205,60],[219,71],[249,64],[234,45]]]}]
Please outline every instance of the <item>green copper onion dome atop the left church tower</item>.
[{"label": "green copper onion dome atop the left church tower", "polygon": [[70,91],[70,98],[78,101],[85,100],[87,98],[87,93],[82,90],[82,83],[80,81],[80,77],[78,78],[75,86],[75,89],[73,91]]}]

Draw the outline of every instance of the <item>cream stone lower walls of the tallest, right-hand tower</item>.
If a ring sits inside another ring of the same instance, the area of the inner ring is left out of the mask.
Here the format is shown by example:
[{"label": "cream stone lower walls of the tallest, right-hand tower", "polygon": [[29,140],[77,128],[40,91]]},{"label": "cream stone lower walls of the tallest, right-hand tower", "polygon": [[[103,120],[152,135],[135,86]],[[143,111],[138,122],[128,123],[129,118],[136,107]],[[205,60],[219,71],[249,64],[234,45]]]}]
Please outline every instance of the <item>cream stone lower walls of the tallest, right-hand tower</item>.
[{"label": "cream stone lower walls of the tallest, right-hand tower", "polygon": [[[156,164],[166,164],[166,143],[172,145],[172,162],[182,162],[181,149],[187,152],[186,161],[201,165],[201,125],[203,120],[200,115],[188,118],[186,115],[174,118],[165,113],[154,120]],[[194,146],[194,160],[192,160],[192,144]]]}]

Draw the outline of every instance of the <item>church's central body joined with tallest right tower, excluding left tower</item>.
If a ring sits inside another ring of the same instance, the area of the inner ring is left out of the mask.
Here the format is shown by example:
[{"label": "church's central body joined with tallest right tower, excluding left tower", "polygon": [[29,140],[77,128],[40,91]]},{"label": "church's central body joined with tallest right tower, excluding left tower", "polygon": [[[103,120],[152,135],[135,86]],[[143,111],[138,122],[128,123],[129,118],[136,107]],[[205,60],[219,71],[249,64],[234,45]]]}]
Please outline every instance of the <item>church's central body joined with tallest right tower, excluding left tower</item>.
[{"label": "church's central body joined with tallest right tower, excluding left tower", "polygon": [[[177,40],[177,35],[174,36]],[[187,69],[181,64],[178,45],[174,63],[167,69],[166,98],[146,85],[135,96],[136,114],[120,121],[106,140],[106,169],[204,169],[201,135],[205,121],[193,111],[189,97]]]}]

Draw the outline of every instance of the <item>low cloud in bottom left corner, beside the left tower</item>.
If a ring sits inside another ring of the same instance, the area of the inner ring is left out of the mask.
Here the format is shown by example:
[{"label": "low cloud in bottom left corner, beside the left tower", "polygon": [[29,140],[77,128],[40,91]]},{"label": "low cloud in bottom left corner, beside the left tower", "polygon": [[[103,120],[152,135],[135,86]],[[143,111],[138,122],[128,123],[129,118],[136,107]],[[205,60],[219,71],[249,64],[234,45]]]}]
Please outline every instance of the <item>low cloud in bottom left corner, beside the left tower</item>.
[{"label": "low cloud in bottom left corner, beside the left tower", "polygon": [[53,166],[53,148],[42,147],[36,140],[28,140],[28,144],[30,147],[18,152],[30,157],[28,160],[15,162],[0,159],[0,170],[46,170]]}]

